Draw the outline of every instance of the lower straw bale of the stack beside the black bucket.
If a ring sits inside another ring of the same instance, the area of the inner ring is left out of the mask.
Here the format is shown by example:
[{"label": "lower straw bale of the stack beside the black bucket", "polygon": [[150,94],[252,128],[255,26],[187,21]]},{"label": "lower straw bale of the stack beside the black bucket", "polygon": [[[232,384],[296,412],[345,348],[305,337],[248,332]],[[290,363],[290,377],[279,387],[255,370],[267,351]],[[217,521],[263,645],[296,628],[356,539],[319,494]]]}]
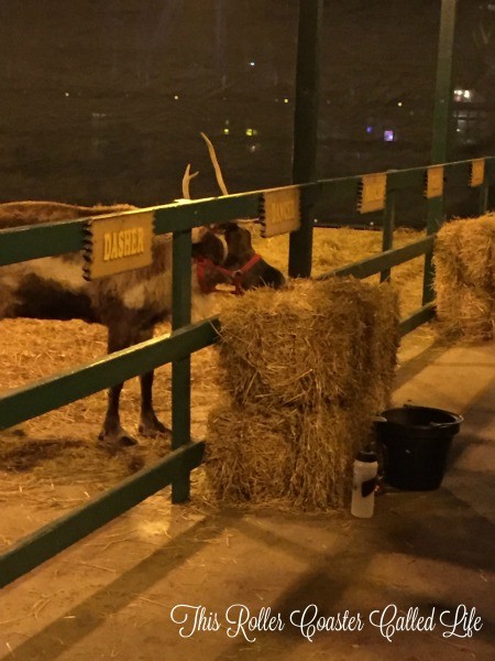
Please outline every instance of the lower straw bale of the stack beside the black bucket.
[{"label": "lower straw bale of the stack beside the black bucket", "polygon": [[267,410],[223,403],[209,419],[207,499],[299,510],[342,507],[370,424],[363,409]]}]

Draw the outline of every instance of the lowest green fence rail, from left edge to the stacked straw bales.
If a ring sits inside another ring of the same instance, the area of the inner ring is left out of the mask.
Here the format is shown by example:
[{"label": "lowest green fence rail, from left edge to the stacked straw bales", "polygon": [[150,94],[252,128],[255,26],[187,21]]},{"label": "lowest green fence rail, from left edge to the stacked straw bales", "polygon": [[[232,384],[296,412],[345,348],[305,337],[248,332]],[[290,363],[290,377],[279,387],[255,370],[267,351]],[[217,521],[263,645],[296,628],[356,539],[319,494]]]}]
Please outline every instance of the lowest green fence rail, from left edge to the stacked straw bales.
[{"label": "lowest green fence rail, from left edge to the stacked straw bales", "polygon": [[22,539],[0,556],[0,587],[156,494],[177,475],[193,470],[200,465],[204,452],[202,442],[183,445],[165,459],[131,475],[84,507]]}]

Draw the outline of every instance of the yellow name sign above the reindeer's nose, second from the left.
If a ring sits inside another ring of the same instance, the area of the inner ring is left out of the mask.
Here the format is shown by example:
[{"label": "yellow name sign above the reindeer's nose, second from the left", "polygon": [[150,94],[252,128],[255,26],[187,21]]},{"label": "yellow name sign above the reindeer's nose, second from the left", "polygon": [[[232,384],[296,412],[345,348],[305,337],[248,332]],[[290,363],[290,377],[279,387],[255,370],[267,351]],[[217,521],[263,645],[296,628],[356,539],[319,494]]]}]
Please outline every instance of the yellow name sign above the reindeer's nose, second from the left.
[{"label": "yellow name sign above the reindeer's nose, second from the left", "polygon": [[261,194],[260,220],[263,238],[300,228],[300,189],[298,186],[274,188]]}]

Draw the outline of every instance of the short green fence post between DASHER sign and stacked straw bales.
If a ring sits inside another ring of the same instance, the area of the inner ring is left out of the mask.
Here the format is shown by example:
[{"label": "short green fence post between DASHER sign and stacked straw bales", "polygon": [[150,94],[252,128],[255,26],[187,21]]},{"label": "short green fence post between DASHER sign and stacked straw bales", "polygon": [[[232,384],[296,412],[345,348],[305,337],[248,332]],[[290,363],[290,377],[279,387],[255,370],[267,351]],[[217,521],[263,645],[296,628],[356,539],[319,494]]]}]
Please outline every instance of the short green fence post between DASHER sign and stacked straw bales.
[{"label": "short green fence post between DASHER sign and stacked straw bales", "polygon": [[[175,231],[173,238],[172,329],[190,324],[191,231]],[[172,449],[190,442],[190,356],[172,364]],[[172,483],[172,502],[184,502],[190,494],[190,475]]]}]

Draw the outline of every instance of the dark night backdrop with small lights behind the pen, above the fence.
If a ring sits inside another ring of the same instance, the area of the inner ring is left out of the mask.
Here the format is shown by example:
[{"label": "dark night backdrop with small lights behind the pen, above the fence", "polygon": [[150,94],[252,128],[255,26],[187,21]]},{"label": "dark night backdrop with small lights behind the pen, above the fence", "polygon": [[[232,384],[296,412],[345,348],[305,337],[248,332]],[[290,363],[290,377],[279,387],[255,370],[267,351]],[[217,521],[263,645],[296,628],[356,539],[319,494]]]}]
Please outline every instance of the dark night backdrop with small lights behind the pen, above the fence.
[{"label": "dark night backdrop with small lights behind the pen, above the fence", "polygon": [[[165,204],[189,162],[193,196],[217,195],[200,131],[229,192],[289,184],[297,11],[2,0],[0,201]],[[440,0],[324,2],[319,177],[429,162],[439,22]],[[449,160],[495,154],[495,0],[460,1],[454,89]]]}]

